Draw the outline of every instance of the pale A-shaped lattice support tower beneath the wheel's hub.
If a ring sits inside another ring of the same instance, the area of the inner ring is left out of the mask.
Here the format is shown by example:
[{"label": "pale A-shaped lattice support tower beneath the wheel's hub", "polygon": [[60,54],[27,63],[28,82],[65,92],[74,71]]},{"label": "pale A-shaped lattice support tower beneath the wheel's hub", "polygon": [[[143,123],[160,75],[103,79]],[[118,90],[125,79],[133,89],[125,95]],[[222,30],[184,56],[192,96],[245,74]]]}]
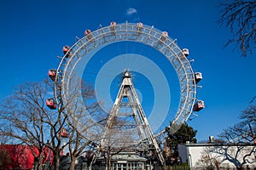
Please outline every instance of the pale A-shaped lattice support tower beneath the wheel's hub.
[{"label": "pale A-shaped lattice support tower beneath the wheel's hub", "polygon": [[[128,111],[129,110],[129,111]],[[164,164],[160,146],[149,126],[143,107],[131,81],[130,71],[125,71],[123,82],[119,88],[108,122],[104,128],[101,146],[123,148],[153,146],[154,153]]]}]

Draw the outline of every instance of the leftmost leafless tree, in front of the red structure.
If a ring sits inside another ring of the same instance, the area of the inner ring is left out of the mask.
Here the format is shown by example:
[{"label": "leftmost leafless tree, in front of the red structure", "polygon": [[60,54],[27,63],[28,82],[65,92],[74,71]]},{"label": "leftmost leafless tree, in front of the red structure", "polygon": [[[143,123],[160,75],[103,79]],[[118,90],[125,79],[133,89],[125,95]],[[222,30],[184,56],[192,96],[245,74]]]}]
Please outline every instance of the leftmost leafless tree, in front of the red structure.
[{"label": "leftmost leafless tree, in front of the red structure", "polygon": [[[45,105],[49,93],[47,82],[26,82],[15,90],[2,104],[0,109],[1,136],[9,136],[28,146],[36,146],[39,156],[38,168],[42,169],[43,151],[49,148],[55,159],[55,169],[59,169],[61,139],[59,132],[66,121],[61,111],[50,111]],[[50,143],[47,143],[49,140]]]}]

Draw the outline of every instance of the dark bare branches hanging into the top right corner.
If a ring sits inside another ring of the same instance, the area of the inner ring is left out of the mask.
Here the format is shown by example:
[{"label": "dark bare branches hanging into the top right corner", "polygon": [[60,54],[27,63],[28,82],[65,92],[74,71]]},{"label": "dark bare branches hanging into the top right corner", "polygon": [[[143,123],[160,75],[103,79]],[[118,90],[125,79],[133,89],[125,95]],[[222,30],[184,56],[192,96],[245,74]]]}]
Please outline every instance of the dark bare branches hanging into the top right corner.
[{"label": "dark bare branches hanging into the top right corner", "polygon": [[241,56],[253,54],[256,43],[256,1],[255,0],[220,0],[220,26],[230,27],[233,34],[224,47],[236,43]]}]

